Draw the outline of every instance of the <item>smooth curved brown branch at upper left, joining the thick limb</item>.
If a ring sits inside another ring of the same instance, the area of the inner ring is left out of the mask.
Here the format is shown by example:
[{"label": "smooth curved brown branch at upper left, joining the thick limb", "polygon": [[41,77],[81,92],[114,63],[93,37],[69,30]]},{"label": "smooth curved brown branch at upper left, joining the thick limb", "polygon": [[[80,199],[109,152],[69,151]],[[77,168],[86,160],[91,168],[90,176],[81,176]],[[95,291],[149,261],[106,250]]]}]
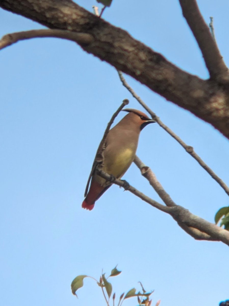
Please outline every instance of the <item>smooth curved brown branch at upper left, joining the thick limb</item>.
[{"label": "smooth curved brown branch at upper left, joining the thick limb", "polygon": [[93,41],[93,36],[87,33],[76,33],[68,30],[39,29],[4,35],[0,40],[0,50],[13,43],[17,43],[19,40],[39,37],[57,37],[72,40],[79,44],[90,44]]}]

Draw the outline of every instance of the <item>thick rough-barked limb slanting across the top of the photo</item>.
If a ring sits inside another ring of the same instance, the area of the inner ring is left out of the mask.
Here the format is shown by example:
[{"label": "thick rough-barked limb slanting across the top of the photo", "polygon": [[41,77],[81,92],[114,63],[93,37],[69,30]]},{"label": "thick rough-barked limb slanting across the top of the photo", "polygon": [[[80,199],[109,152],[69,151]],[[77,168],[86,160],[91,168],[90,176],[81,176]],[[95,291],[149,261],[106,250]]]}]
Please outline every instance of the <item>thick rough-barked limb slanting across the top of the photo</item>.
[{"label": "thick rough-barked limb slanting across the top of the photo", "polygon": [[1,0],[0,7],[49,28],[92,35],[90,44],[80,44],[85,51],[209,122],[229,138],[229,84],[225,77],[222,83],[217,77],[202,80],[191,75],[71,0]]}]

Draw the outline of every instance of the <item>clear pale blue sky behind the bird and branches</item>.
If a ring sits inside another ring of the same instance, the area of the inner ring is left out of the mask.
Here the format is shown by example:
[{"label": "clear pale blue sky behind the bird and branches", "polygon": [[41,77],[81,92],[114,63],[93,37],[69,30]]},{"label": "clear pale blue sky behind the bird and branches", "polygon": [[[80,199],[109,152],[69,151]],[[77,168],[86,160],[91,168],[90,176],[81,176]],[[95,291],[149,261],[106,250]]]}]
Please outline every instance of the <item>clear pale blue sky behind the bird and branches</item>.
[{"label": "clear pale blue sky behind the bird and branches", "polygon": [[[92,12],[95,0],[79,0]],[[227,65],[228,0],[198,1],[205,21],[214,17],[217,43]],[[100,6],[101,7],[101,6]],[[103,17],[127,30],[182,69],[208,72],[178,1],[113,0]],[[43,28],[0,10],[0,36]],[[142,107],[122,86],[116,70],[73,42],[31,39],[0,52],[0,297],[3,306],[105,305],[100,288],[77,275],[98,278],[118,263],[117,295],[141,281],[154,289],[153,304],[215,306],[229,298],[229,249],[195,241],[168,215],[112,186],[92,211],[81,208],[99,141],[123,99]],[[166,125],[229,184],[228,141],[211,125],[165,101],[130,77],[134,90]],[[119,114],[118,122],[124,113]],[[223,189],[157,124],[141,133],[137,154],[179,205],[214,222],[228,205]],[[161,202],[135,165],[131,185]],[[123,305],[136,305],[127,300]]]}]

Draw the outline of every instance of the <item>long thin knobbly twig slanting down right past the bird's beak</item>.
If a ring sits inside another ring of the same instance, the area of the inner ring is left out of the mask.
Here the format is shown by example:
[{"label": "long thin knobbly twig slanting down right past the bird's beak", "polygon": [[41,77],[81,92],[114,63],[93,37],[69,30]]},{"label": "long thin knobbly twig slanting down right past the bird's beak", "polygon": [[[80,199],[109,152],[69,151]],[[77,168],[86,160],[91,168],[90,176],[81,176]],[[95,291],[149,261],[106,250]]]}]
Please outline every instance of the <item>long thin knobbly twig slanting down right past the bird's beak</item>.
[{"label": "long thin knobbly twig slanting down right past the bird's beak", "polygon": [[208,174],[223,188],[223,190],[229,196],[229,188],[223,182],[223,180],[218,177],[215,172],[199,157],[199,155],[194,151],[193,147],[188,146],[179,136],[177,136],[167,125],[165,125],[159,117],[146,105],[145,102],[135,93],[135,91],[130,87],[130,85],[125,80],[121,71],[118,71],[120,80],[125,88],[131,93],[131,95],[145,108],[145,110],[151,115],[152,119],[157,121],[157,123],[170,135],[172,136],[184,149],[187,151],[199,164],[204,168]]}]

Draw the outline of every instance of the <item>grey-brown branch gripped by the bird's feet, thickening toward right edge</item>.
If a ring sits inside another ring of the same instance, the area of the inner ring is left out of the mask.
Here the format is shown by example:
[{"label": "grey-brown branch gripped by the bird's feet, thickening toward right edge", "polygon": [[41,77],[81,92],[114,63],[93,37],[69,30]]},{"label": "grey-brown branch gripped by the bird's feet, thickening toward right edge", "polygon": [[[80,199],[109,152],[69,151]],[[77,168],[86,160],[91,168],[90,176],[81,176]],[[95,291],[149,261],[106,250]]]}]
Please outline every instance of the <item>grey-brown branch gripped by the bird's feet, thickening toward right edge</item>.
[{"label": "grey-brown branch gripped by the bird's feet, thickening toward right edge", "polygon": [[[112,181],[114,184],[124,187],[126,182],[118,179],[113,179],[109,174],[105,173],[102,170],[97,170],[97,174],[105,178],[107,181]],[[223,243],[229,246],[229,232],[222,229],[219,226],[216,226],[213,223],[210,223],[196,215],[193,215],[182,206],[175,205],[172,207],[164,206],[157,201],[146,196],[133,186],[129,185],[126,190],[138,196],[140,199],[149,203],[151,206],[164,211],[174,218],[174,220],[179,224],[182,224],[182,228],[189,233],[192,237],[198,240],[211,240],[211,241],[222,241]],[[192,229],[193,228],[193,229]],[[198,233],[200,234],[198,235]]]}]

